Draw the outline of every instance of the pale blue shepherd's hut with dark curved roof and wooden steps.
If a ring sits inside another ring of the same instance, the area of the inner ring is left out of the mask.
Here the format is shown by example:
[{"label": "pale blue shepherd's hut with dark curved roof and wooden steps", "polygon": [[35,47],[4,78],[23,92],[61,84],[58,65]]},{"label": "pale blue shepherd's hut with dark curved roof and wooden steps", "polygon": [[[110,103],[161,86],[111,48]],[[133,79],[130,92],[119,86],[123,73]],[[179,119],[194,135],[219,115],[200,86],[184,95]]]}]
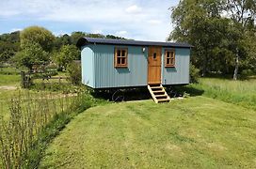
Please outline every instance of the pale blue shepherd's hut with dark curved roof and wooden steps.
[{"label": "pale blue shepherd's hut with dark curved roof and wooden steps", "polygon": [[82,83],[92,88],[148,86],[159,102],[169,100],[163,85],[189,84],[192,46],[186,43],[80,38],[77,47]]}]

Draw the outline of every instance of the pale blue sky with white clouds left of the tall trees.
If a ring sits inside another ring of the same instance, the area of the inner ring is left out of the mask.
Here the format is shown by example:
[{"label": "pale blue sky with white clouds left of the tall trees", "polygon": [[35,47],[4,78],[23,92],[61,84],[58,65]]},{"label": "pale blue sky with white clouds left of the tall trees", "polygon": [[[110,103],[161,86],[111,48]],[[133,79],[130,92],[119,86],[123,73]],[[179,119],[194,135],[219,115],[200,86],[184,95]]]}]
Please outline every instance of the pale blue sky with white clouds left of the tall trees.
[{"label": "pale blue sky with white clouds left of the tall trees", "polygon": [[0,0],[0,34],[40,25],[56,36],[73,31],[165,41],[178,0]]}]

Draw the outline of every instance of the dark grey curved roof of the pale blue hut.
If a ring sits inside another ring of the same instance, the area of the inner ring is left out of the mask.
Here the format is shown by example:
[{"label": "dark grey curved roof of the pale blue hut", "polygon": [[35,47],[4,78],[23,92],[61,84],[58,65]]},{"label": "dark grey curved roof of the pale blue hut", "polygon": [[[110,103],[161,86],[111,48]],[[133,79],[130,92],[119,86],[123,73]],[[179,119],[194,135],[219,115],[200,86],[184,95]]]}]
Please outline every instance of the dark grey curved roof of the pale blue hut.
[{"label": "dark grey curved roof of the pale blue hut", "polygon": [[163,47],[178,47],[191,48],[192,45],[188,43],[177,42],[159,42],[159,41],[138,41],[131,39],[113,39],[113,38],[80,38],[76,46],[81,48],[87,44],[113,44],[113,45],[128,45],[128,46],[163,46]]}]

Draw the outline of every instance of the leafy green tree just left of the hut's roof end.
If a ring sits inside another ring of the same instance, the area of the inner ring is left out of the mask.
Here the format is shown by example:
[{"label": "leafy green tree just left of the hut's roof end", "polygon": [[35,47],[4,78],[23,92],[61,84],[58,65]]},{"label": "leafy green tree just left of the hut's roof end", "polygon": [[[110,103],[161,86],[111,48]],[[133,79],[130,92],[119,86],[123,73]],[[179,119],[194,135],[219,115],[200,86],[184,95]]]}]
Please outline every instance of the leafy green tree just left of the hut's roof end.
[{"label": "leafy green tree just left of the hut's roof end", "polygon": [[66,69],[72,60],[80,59],[80,51],[74,45],[64,45],[60,51],[54,54],[54,60],[59,69]]}]

